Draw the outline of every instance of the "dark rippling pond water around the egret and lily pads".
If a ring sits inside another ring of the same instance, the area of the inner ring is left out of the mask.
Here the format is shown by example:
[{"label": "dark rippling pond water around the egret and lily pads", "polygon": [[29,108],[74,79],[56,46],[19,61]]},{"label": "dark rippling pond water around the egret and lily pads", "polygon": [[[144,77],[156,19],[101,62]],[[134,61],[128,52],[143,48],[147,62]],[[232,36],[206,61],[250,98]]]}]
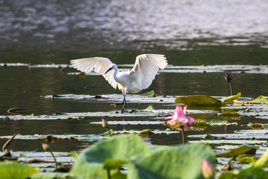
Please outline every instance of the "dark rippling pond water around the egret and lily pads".
[{"label": "dark rippling pond water around the egret and lily pads", "polygon": [[[86,57],[107,57],[116,64],[134,64],[143,53],[166,56],[174,66],[184,65],[267,65],[267,1],[41,1],[0,0],[0,63],[68,64]],[[52,115],[59,112],[107,112],[109,102],[42,98],[52,94],[121,94],[102,76],[67,75],[68,68],[0,67],[0,115],[10,115],[14,107],[27,109],[24,115]],[[232,73],[233,92],[242,97],[268,96],[268,75]],[[157,95],[229,96],[225,72],[161,73],[141,93],[155,90]],[[116,101],[115,101],[116,102]],[[174,103],[127,103],[126,109],[174,109]],[[188,109],[232,109],[188,107]],[[234,109],[238,111],[240,109]],[[222,119],[193,115],[194,118]],[[121,117],[106,118],[122,120]],[[0,136],[34,134],[100,134],[105,129],[89,124],[100,117],[73,120],[0,120]],[[159,120],[130,117],[125,121]],[[163,120],[163,118],[160,118]],[[238,126],[208,127],[204,131],[187,131],[186,135],[233,133],[240,124],[267,123],[264,119],[241,117]],[[163,125],[115,125],[114,130],[166,129]],[[189,140],[186,138],[186,140]],[[192,139],[191,139],[192,140]],[[180,135],[152,135],[147,143],[174,145]],[[0,146],[6,140],[0,139]],[[31,151],[43,140],[14,140],[10,148]],[[53,151],[84,149],[93,142],[55,141]]]}]

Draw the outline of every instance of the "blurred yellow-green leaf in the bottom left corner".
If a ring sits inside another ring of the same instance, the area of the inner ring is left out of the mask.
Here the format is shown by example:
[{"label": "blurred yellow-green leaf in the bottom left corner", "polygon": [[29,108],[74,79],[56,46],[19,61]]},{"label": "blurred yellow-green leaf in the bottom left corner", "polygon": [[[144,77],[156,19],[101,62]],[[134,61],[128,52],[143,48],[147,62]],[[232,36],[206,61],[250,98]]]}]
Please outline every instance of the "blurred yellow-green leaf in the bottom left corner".
[{"label": "blurred yellow-green leaf in the bottom left corner", "polygon": [[0,162],[0,178],[3,179],[26,179],[37,172],[39,172],[38,168],[33,168],[24,163]]}]

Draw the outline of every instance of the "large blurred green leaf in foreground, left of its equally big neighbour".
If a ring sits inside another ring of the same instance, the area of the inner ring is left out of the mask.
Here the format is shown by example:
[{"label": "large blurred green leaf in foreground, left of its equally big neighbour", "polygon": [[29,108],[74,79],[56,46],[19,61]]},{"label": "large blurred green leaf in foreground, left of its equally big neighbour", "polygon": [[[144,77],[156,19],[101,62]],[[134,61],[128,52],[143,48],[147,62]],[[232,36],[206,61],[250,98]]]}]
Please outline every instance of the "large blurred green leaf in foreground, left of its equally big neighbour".
[{"label": "large blurred green leaf in foreground, left of its equally big neighbour", "polygon": [[[71,174],[80,178],[107,178],[106,159],[128,161],[139,154],[148,154],[149,148],[136,134],[117,136],[92,145],[74,163]],[[111,169],[111,174],[117,169]]]}]

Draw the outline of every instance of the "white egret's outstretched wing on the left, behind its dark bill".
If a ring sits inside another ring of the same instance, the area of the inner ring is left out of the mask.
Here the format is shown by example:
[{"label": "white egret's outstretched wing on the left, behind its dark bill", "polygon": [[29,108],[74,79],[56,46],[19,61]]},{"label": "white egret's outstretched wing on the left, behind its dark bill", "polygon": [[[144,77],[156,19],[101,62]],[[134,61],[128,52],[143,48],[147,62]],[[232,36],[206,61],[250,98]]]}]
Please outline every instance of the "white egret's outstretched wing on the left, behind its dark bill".
[{"label": "white egret's outstretched wing on the left, behind its dark bill", "polygon": [[[100,73],[104,78],[116,89],[117,82],[113,78],[113,71],[109,71],[104,74],[113,64],[108,58],[94,57],[94,58],[81,58],[77,60],[71,60],[72,66],[80,70],[81,72],[91,72],[94,69],[95,72]],[[120,90],[120,89],[119,89]]]}]

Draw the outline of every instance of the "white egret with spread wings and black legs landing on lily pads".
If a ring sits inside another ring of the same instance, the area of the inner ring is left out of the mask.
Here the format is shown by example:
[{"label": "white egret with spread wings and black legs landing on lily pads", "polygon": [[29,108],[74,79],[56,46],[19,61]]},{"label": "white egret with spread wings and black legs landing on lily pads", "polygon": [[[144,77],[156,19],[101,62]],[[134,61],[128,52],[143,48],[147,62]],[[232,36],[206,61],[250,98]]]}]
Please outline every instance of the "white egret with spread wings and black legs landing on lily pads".
[{"label": "white egret with spread wings and black legs landing on lily pads", "polygon": [[[119,104],[112,104],[114,107],[123,105],[120,113],[123,112],[126,104],[127,92],[136,93],[148,88],[159,68],[164,69],[167,66],[166,57],[158,54],[143,54],[136,57],[132,70],[120,72],[116,64],[113,64],[108,58],[94,57],[71,60],[72,66],[81,72],[91,72],[95,68],[104,76],[114,89],[118,86],[124,95],[124,100]],[[114,71],[111,71],[114,70]]]}]

